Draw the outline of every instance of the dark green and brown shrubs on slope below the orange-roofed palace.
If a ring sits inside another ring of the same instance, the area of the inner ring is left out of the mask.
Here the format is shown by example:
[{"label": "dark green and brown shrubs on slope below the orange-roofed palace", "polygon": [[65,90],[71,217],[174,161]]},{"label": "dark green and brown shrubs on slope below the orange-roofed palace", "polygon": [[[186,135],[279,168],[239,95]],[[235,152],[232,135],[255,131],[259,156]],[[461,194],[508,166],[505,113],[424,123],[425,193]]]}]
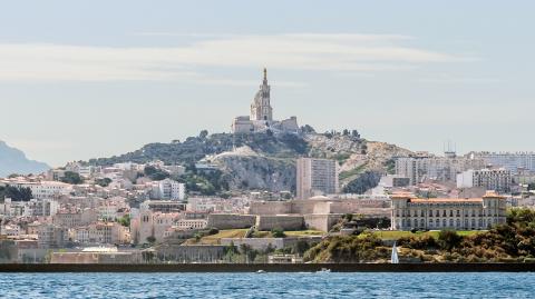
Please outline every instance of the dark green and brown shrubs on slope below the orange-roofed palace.
[{"label": "dark green and brown shrubs on slope below the orange-roofed palace", "polygon": [[324,239],[304,255],[314,262],[387,262],[397,240],[400,260],[412,262],[523,262],[535,258],[535,211],[512,209],[487,231],[364,231]]}]

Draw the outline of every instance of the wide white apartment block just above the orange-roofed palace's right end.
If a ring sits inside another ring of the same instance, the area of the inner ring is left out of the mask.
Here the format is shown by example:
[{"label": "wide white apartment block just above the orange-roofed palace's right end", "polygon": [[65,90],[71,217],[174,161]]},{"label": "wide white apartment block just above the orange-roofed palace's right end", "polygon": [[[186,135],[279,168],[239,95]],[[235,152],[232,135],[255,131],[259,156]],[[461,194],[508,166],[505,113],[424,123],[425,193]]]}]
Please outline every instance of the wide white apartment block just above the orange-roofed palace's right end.
[{"label": "wide white apartment block just above the orange-roofed palace's right end", "polygon": [[510,170],[500,169],[480,169],[467,170],[457,175],[457,188],[480,187],[486,190],[498,192],[509,192],[513,183]]}]

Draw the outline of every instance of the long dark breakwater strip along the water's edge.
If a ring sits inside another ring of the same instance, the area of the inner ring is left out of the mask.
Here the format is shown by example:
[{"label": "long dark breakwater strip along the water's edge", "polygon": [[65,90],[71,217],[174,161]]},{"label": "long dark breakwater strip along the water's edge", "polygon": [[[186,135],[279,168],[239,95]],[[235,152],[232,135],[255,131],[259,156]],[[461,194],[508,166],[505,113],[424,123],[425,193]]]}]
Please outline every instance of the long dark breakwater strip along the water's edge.
[{"label": "long dark breakwater strip along the water's edge", "polygon": [[535,272],[535,263],[3,263],[0,272]]}]

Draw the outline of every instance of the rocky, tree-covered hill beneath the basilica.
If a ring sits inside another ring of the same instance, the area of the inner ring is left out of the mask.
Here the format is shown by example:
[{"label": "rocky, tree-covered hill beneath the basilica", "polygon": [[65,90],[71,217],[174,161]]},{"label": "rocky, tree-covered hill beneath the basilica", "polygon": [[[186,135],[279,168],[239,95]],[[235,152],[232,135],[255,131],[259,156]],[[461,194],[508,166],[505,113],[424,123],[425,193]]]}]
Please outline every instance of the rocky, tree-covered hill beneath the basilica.
[{"label": "rocky, tree-covered hill beneath the basilica", "polygon": [[149,143],[110,158],[91,159],[91,165],[145,163],[193,166],[205,161],[217,166],[230,190],[295,190],[295,159],[334,159],[340,165],[344,191],[362,191],[377,185],[381,173],[391,172],[393,157],[411,153],[385,142],[368,141],[353,130],[317,133],[310,126],[302,133],[214,133],[202,131],[183,142]]}]

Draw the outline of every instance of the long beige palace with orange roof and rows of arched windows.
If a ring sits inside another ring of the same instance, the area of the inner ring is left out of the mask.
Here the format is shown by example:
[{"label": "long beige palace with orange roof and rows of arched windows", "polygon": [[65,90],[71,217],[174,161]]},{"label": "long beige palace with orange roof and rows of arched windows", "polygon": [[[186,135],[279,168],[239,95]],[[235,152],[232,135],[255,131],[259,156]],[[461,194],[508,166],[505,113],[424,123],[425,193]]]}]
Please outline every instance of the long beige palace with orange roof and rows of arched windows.
[{"label": "long beige palace with orange roof and rows of arched windows", "polygon": [[392,196],[393,230],[487,229],[505,223],[506,200],[495,192],[483,198],[415,198],[410,193]]}]

